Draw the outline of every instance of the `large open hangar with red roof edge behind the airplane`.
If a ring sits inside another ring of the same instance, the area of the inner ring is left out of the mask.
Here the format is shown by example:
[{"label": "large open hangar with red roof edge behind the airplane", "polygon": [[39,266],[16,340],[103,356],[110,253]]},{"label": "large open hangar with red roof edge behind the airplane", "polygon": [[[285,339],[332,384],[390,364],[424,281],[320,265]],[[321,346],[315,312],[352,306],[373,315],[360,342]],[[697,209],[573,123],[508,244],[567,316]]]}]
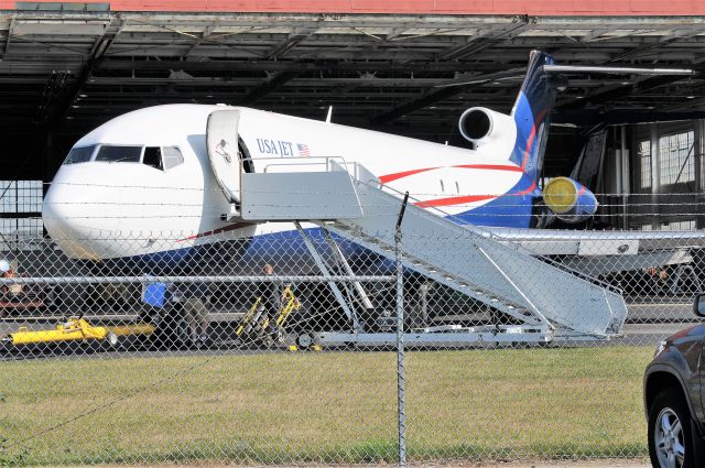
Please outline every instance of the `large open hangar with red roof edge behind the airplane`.
[{"label": "large open hangar with red roof edge behind the airplane", "polygon": [[323,119],[333,106],[337,123],[463,145],[459,115],[509,111],[533,48],[698,73],[571,77],[544,176],[579,163],[606,194],[603,226],[705,227],[705,6],[579,3],[0,0],[2,231],[41,232],[42,184],[117,115],[224,102]]}]

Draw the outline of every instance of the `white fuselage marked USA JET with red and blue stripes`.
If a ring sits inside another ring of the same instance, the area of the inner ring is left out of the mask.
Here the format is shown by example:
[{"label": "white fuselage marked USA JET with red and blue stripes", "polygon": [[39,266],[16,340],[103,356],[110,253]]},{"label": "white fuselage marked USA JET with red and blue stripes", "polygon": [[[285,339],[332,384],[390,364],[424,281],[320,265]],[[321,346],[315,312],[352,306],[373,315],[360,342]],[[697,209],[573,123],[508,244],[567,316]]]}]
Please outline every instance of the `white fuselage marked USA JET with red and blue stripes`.
[{"label": "white fuselage marked USA JET with red and blue stripes", "polygon": [[[293,230],[286,222],[221,219],[230,200],[206,150],[208,116],[223,106],[169,105],[115,118],[82,138],[45,196],[50,236],[73,258],[115,259]],[[232,108],[230,108],[232,109]],[[533,177],[508,160],[516,130],[460,149],[249,108],[240,111],[240,157],[250,170],[295,167],[316,157],[359,163],[420,206],[459,224],[529,227]],[[315,187],[311,187],[315,189]]]}]

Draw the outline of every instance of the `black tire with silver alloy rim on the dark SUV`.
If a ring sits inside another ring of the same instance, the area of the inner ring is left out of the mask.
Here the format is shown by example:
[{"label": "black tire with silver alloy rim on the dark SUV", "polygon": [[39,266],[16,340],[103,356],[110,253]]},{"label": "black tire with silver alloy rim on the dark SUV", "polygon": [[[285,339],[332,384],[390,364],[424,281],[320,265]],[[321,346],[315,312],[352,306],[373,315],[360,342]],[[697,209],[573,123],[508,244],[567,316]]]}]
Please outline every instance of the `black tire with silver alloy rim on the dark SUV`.
[{"label": "black tire with silver alloy rim on the dark SUV", "polygon": [[662,390],[649,409],[649,457],[654,468],[695,468],[691,412],[682,393]]}]

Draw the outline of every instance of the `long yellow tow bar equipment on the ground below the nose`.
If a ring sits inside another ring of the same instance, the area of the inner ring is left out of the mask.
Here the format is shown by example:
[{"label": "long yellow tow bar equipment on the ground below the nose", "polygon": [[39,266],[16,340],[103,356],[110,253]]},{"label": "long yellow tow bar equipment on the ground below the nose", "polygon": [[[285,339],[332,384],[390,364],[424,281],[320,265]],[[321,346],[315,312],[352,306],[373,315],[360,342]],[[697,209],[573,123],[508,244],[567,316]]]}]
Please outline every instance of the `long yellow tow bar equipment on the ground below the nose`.
[{"label": "long yellow tow bar equipment on the ground below the nose", "polygon": [[96,340],[116,347],[121,336],[149,335],[152,331],[154,326],[148,324],[108,328],[93,326],[83,317],[69,317],[54,329],[30,330],[28,327],[20,327],[18,331],[8,335],[8,338],[12,346]]}]

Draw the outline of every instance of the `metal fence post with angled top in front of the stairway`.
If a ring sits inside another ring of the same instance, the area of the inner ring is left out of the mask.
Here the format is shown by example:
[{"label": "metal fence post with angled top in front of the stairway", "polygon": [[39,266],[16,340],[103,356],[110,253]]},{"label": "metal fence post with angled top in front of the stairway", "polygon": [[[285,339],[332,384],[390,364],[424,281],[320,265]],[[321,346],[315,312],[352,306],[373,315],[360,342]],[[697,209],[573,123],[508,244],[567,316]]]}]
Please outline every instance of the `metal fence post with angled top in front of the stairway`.
[{"label": "metal fence post with angled top in front of the stairway", "polygon": [[406,376],[404,369],[404,285],[401,254],[401,221],[404,218],[409,192],[404,194],[394,230],[394,257],[397,260],[397,407],[399,429],[399,468],[406,467]]}]

